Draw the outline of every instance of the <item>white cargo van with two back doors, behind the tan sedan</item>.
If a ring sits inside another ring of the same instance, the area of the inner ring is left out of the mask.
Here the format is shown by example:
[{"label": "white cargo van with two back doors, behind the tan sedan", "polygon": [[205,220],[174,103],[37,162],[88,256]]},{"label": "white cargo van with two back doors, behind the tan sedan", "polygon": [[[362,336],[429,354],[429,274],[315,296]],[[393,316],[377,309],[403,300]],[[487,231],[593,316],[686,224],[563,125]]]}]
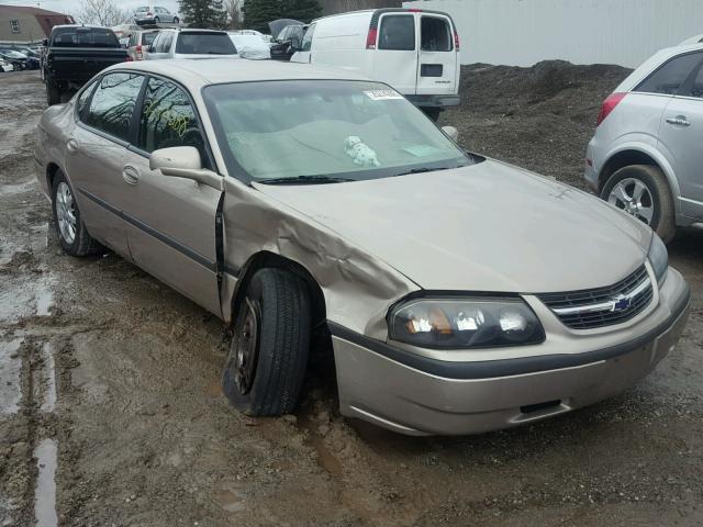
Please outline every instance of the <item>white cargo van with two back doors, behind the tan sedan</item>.
[{"label": "white cargo van with two back doors, behind the tan sedan", "polygon": [[314,20],[293,63],[361,71],[433,119],[459,104],[459,36],[447,13],[375,9]]}]

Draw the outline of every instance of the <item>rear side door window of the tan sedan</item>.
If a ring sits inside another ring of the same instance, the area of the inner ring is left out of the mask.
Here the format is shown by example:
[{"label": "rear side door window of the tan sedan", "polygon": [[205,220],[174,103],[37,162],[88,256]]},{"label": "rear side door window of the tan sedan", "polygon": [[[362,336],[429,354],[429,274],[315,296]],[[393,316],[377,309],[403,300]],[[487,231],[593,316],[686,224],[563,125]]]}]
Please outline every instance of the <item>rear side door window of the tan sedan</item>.
[{"label": "rear side door window of the tan sedan", "polygon": [[134,74],[108,74],[90,101],[86,124],[123,141],[130,141],[130,124],[144,77]]}]

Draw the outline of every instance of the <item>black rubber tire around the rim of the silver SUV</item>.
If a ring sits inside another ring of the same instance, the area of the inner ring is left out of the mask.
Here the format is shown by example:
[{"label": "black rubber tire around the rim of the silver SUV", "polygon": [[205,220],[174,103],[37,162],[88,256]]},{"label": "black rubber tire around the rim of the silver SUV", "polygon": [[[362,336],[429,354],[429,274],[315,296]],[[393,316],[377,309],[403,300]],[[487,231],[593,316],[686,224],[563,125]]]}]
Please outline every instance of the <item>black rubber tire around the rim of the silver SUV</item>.
[{"label": "black rubber tire around the rim of the silver SUV", "polygon": [[[647,191],[651,195],[654,213],[651,221],[643,221],[647,223],[652,231],[656,231],[665,243],[671,242],[677,231],[673,197],[671,195],[667,177],[661,169],[651,165],[631,165],[623,167],[615,171],[605,182],[601,190],[601,199],[607,201],[615,186],[625,179],[637,180],[647,188]],[[622,206],[617,204],[616,206],[622,209]]]}]

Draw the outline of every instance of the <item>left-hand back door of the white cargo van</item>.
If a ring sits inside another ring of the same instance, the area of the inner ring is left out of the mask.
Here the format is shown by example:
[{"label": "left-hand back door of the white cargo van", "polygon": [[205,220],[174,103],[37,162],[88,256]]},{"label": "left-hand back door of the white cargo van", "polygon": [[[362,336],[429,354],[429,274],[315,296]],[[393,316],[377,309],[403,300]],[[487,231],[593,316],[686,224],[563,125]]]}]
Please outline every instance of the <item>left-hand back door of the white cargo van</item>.
[{"label": "left-hand back door of the white cargo van", "polygon": [[392,86],[403,94],[414,96],[417,79],[414,13],[382,13],[377,33],[376,52],[369,52],[373,57],[370,77]]}]

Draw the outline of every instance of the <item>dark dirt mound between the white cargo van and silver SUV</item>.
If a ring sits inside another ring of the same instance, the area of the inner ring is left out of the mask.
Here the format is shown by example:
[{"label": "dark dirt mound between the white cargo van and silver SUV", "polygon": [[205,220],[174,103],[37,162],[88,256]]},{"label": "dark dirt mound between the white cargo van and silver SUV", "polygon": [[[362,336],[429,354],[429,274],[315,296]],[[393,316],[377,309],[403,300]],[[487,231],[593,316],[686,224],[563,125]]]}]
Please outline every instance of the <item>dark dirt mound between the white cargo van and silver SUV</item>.
[{"label": "dark dirt mound between the white cargo van and silver SUV", "polygon": [[629,75],[620,66],[546,60],[529,68],[461,68],[461,105],[442,124],[464,146],[583,188],[585,146],[603,99]]}]

